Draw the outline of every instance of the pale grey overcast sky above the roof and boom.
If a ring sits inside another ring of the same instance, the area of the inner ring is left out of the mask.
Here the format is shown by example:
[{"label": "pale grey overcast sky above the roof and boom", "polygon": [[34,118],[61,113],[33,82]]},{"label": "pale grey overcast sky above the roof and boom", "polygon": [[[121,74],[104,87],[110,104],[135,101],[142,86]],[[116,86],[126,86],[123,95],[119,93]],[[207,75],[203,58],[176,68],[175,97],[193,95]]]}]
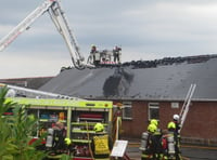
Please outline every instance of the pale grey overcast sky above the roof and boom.
[{"label": "pale grey overcast sky above the roof and boom", "polygon": [[[1,0],[0,39],[43,0]],[[123,48],[123,62],[217,53],[216,0],[62,0],[82,55]],[[0,52],[0,79],[55,76],[72,66],[48,13]]]}]

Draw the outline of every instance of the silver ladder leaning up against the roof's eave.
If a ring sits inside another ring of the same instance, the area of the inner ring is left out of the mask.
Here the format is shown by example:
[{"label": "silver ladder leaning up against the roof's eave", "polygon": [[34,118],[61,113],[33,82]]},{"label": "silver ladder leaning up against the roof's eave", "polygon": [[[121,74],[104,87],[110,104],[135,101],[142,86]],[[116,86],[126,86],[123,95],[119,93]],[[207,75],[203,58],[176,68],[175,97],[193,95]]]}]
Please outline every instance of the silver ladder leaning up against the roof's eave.
[{"label": "silver ladder leaning up against the roof's eave", "polygon": [[196,88],[196,84],[191,84],[190,85],[189,91],[188,91],[187,96],[186,96],[186,99],[184,99],[184,103],[182,105],[181,111],[179,114],[179,116],[180,116],[180,126],[181,126],[180,131],[181,131],[181,129],[183,126],[183,123],[186,121],[187,115],[189,112],[189,106],[191,104],[191,98],[193,96],[195,88]]}]

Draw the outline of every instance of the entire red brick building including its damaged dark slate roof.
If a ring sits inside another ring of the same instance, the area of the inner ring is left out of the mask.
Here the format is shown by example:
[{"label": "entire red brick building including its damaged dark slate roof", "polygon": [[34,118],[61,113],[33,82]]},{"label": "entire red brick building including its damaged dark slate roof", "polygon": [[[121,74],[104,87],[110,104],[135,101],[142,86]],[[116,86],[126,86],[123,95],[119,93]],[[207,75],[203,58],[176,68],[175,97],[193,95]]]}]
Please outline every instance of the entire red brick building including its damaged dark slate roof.
[{"label": "entire red brick building including its damaged dark slate roof", "polygon": [[217,56],[125,63],[122,67],[68,69],[40,90],[87,99],[123,103],[124,136],[140,137],[151,118],[165,129],[196,84],[181,135],[210,143],[217,135]]}]

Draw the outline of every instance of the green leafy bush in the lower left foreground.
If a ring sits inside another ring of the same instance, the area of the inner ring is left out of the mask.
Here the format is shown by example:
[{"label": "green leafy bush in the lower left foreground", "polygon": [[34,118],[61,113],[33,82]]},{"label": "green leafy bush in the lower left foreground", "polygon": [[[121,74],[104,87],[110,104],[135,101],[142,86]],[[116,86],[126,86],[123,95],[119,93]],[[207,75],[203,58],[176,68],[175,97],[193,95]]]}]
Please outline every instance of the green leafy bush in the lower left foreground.
[{"label": "green leafy bush in the lower left foreground", "polygon": [[[38,120],[34,115],[26,114],[26,106],[5,102],[8,89],[0,89],[0,159],[1,160],[40,160],[46,152],[37,150],[39,138],[29,145],[30,135],[38,129]],[[13,108],[12,116],[4,116]]]}]

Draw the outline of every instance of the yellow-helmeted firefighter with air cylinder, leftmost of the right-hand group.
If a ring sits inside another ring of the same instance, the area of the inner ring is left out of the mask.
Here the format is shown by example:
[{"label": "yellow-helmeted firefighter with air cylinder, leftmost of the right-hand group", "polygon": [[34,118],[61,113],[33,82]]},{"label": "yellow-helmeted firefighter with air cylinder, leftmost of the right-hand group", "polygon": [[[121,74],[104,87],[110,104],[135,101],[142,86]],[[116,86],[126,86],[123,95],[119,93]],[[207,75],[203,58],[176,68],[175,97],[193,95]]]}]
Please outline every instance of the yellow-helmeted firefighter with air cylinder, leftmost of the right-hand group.
[{"label": "yellow-helmeted firefighter with air cylinder, leftmost of the right-hand group", "polygon": [[142,133],[142,141],[140,150],[142,151],[141,160],[155,160],[156,159],[156,137],[154,133],[157,128],[155,124],[149,124],[148,131]]}]

